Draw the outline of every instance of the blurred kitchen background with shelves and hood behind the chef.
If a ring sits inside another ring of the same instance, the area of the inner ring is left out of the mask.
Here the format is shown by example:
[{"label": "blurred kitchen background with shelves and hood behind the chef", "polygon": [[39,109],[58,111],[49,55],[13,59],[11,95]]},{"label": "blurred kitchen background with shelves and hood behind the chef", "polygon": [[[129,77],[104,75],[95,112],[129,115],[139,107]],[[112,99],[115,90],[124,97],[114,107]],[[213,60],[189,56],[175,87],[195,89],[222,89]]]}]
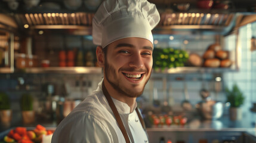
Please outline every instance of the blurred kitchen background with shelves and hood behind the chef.
[{"label": "blurred kitchen background with shelves and hood behind the chef", "polygon": [[[202,1],[212,2],[211,7]],[[224,120],[217,128],[227,122],[255,126],[256,2],[202,1],[150,1],[159,8],[161,22],[153,30],[152,76],[137,99],[148,128],[160,126],[154,115],[171,116],[172,122],[173,117],[186,117],[185,125],[198,119]],[[24,125],[23,94],[33,97],[33,123],[55,127],[97,88],[103,73],[96,63],[91,20],[100,2],[0,2],[0,91],[10,98],[13,111],[7,128]],[[226,58],[209,55],[217,64],[207,64],[209,49],[224,51]],[[173,59],[163,64],[165,58]],[[225,92],[235,84],[245,97],[238,122],[229,120]],[[211,113],[220,115],[205,117],[200,103],[208,101],[221,103],[220,108],[210,105]]]}]

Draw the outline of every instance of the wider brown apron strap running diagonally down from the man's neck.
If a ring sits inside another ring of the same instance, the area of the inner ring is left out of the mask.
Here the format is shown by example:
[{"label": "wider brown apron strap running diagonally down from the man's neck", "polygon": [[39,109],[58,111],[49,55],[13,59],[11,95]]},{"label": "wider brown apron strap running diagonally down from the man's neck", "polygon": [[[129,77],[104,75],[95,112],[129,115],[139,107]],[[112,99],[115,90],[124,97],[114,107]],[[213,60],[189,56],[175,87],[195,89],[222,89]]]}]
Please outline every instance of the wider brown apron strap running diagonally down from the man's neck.
[{"label": "wider brown apron strap running diagonally down from the man's neck", "polygon": [[127,142],[127,143],[130,142],[129,136],[127,134],[127,131],[125,130],[125,126],[122,122],[122,119],[118,113],[118,110],[116,109],[116,106],[115,106],[113,100],[111,99],[111,97],[109,95],[109,92],[107,92],[107,89],[105,88],[104,83],[102,83],[102,91],[103,91],[103,94],[105,95],[105,97],[107,98],[107,102],[109,102],[111,110],[113,111],[113,113],[115,115],[116,122],[118,122],[119,128],[121,129],[121,132],[124,135],[125,142]]}]

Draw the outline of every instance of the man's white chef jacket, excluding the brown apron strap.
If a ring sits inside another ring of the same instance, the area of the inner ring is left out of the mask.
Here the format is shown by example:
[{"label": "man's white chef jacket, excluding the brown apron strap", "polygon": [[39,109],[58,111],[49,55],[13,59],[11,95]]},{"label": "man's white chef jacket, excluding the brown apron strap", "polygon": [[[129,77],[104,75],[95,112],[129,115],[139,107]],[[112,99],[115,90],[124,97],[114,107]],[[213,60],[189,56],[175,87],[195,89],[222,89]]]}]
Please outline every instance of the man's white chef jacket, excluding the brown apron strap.
[{"label": "man's white chef jacket, excluding the brown apron strap", "polygon": [[[102,81],[98,88],[81,102],[61,123],[51,142],[125,142],[115,116],[103,95]],[[135,111],[137,103],[129,113],[129,106],[112,98],[131,142],[148,142],[147,133],[141,126]]]}]

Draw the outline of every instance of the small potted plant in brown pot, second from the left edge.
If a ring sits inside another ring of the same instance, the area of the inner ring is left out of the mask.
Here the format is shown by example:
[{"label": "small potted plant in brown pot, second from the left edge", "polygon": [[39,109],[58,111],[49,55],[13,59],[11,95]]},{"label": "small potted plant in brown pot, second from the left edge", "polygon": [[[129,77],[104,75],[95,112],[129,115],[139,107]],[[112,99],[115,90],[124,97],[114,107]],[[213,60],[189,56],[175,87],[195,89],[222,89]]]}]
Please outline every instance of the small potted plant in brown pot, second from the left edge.
[{"label": "small potted plant in brown pot, second from the left edge", "polygon": [[35,122],[35,111],[33,111],[33,97],[30,94],[21,95],[20,100],[22,119],[24,124]]}]

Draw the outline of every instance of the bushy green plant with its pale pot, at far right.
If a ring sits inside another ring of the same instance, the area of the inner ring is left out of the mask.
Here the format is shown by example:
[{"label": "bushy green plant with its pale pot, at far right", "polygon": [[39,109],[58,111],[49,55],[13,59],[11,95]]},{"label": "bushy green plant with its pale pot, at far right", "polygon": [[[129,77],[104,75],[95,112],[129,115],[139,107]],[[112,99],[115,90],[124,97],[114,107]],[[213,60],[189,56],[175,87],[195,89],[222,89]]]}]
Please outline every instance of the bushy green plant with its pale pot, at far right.
[{"label": "bushy green plant with its pale pot, at far right", "polygon": [[242,119],[242,108],[240,106],[245,101],[242,91],[238,88],[238,85],[234,84],[232,89],[226,88],[227,102],[230,102],[230,120]]}]

